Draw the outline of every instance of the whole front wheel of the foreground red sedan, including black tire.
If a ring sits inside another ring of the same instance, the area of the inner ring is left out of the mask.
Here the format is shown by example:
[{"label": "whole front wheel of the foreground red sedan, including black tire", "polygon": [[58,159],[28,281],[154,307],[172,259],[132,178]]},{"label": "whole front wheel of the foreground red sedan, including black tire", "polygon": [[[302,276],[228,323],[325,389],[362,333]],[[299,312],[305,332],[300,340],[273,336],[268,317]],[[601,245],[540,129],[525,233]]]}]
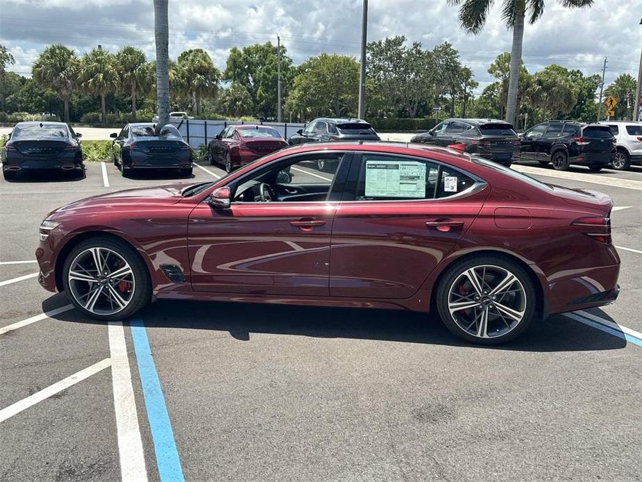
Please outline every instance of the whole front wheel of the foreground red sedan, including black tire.
[{"label": "whole front wheel of the foreground red sedan, including black tire", "polygon": [[[119,271],[122,272],[121,277],[112,279],[96,273],[96,258],[92,250],[98,250],[101,263],[108,266],[104,272]],[[78,278],[72,275],[70,279],[72,267]],[[130,274],[123,274],[126,268]],[[96,281],[89,281],[90,278]],[[144,261],[130,244],[117,238],[97,236],[72,249],[62,266],[62,286],[71,304],[94,319],[126,319],[151,301],[151,281]],[[95,294],[96,290],[101,291]],[[119,301],[116,301],[117,297],[120,297]]]}]

